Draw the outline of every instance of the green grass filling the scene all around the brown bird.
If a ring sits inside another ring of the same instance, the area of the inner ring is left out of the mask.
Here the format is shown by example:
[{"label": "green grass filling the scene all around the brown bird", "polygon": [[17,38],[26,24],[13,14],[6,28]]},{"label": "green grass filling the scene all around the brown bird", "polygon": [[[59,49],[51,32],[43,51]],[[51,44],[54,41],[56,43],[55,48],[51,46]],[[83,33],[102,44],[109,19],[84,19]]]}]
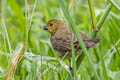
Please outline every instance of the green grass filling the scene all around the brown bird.
[{"label": "green grass filling the scene all around the brown bird", "polygon": [[[0,4],[0,80],[120,79],[119,0],[1,0]],[[71,46],[72,70],[68,60],[55,55],[50,34],[42,29],[52,18],[69,25],[83,50],[76,59]],[[102,40],[88,50],[78,31]]]}]

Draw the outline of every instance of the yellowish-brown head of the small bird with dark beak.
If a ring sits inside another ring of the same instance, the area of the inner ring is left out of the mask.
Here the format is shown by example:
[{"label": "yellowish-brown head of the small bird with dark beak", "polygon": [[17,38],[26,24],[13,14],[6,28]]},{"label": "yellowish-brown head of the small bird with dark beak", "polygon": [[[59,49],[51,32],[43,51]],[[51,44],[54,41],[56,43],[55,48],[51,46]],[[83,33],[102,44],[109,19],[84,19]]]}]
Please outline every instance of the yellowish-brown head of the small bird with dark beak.
[{"label": "yellowish-brown head of the small bird with dark beak", "polygon": [[46,25],[44,25],[43,29],[48,30],[48,32],[50,32],[51,35],[53,35],[58,30],[58,28],[63,26],[63,24],[64,22],[61,20],[51,19],[47,22]]}]

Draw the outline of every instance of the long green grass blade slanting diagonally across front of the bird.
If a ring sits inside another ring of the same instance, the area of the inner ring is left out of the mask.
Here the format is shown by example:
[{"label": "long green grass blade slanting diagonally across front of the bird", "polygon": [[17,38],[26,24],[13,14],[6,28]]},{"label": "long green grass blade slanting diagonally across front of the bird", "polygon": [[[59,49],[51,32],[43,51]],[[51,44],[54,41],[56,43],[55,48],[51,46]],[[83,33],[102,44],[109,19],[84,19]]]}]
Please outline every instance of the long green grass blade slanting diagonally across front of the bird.
[{"label": "long green grass blade slanting diagonally across front of the bird", "polygon": [[97,72],[96,72],[96,70],[95,70],[95,68],[94,68],[94,66],[93,66],[93,64],[92,64],[92,60],[91,60],[90,55],[89,55],[89,53],[88,53],[88,51],[87,51],[87,48],[86,48],[86,46],[85,46],[82,38],[81,38],[80,35],[79,35],[79,32],[78,32],[78,30],[77,30],[77,28],[76,28],[76,25],[75,25],[75,23],[73,22],[73,20],[72,20],[72,18],[71,18],[71,16],[70,16],[70,14],[69,14],[69,12],[68,12],[65,4],[64,4],[64,1],[63,1],[63,0],[59,0],[59,2],[60,2],[60,5],[61,5],[61,7],[62,7],[63,13],[64,13],[66,19],[68,20],[68,23],[69,23],[70,28],[72,28],[74,34],[76,35],[76,37],[77,37],[77,39],[78,39],[78,42],[79,42],[81,48],[82,48],[82,50],[83,50],[83,53],[85,54],[85,56],[86,56],[87,59],[88,59],[88,62],[89,62],[89,64],[90,64],[91,69],[94,71],[96,78],[99,80],[99,76],[98,76],[98,74],[97,74]]}]

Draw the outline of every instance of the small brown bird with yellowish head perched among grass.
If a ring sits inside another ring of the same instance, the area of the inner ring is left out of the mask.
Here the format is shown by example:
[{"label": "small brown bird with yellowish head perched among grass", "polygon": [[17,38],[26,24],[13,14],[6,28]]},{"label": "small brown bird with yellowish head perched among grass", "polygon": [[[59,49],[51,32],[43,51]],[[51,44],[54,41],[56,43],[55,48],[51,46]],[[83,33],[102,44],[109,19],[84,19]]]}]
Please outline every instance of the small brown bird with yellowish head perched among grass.
[{"label": "small brown bird with yellowish head perched among grass", "polygon": [[[59,57],[69,59],[71,56],[71,40],[69,27],[61,20],[51,19],[47,22],[43,29],[48,30],[50,32],[51,34],[50,41],[57,55]],[[89,39],[82,32],[79,32],[79,34],[82,37],[87,48],[95,47],[96,44],[99,43],[101,40],[101,39]],[[81,47],[74,34],[72,34],[72,39],[74,44],[74,50],[75,53],[77,54],[79,51],[81,51]]]}]

